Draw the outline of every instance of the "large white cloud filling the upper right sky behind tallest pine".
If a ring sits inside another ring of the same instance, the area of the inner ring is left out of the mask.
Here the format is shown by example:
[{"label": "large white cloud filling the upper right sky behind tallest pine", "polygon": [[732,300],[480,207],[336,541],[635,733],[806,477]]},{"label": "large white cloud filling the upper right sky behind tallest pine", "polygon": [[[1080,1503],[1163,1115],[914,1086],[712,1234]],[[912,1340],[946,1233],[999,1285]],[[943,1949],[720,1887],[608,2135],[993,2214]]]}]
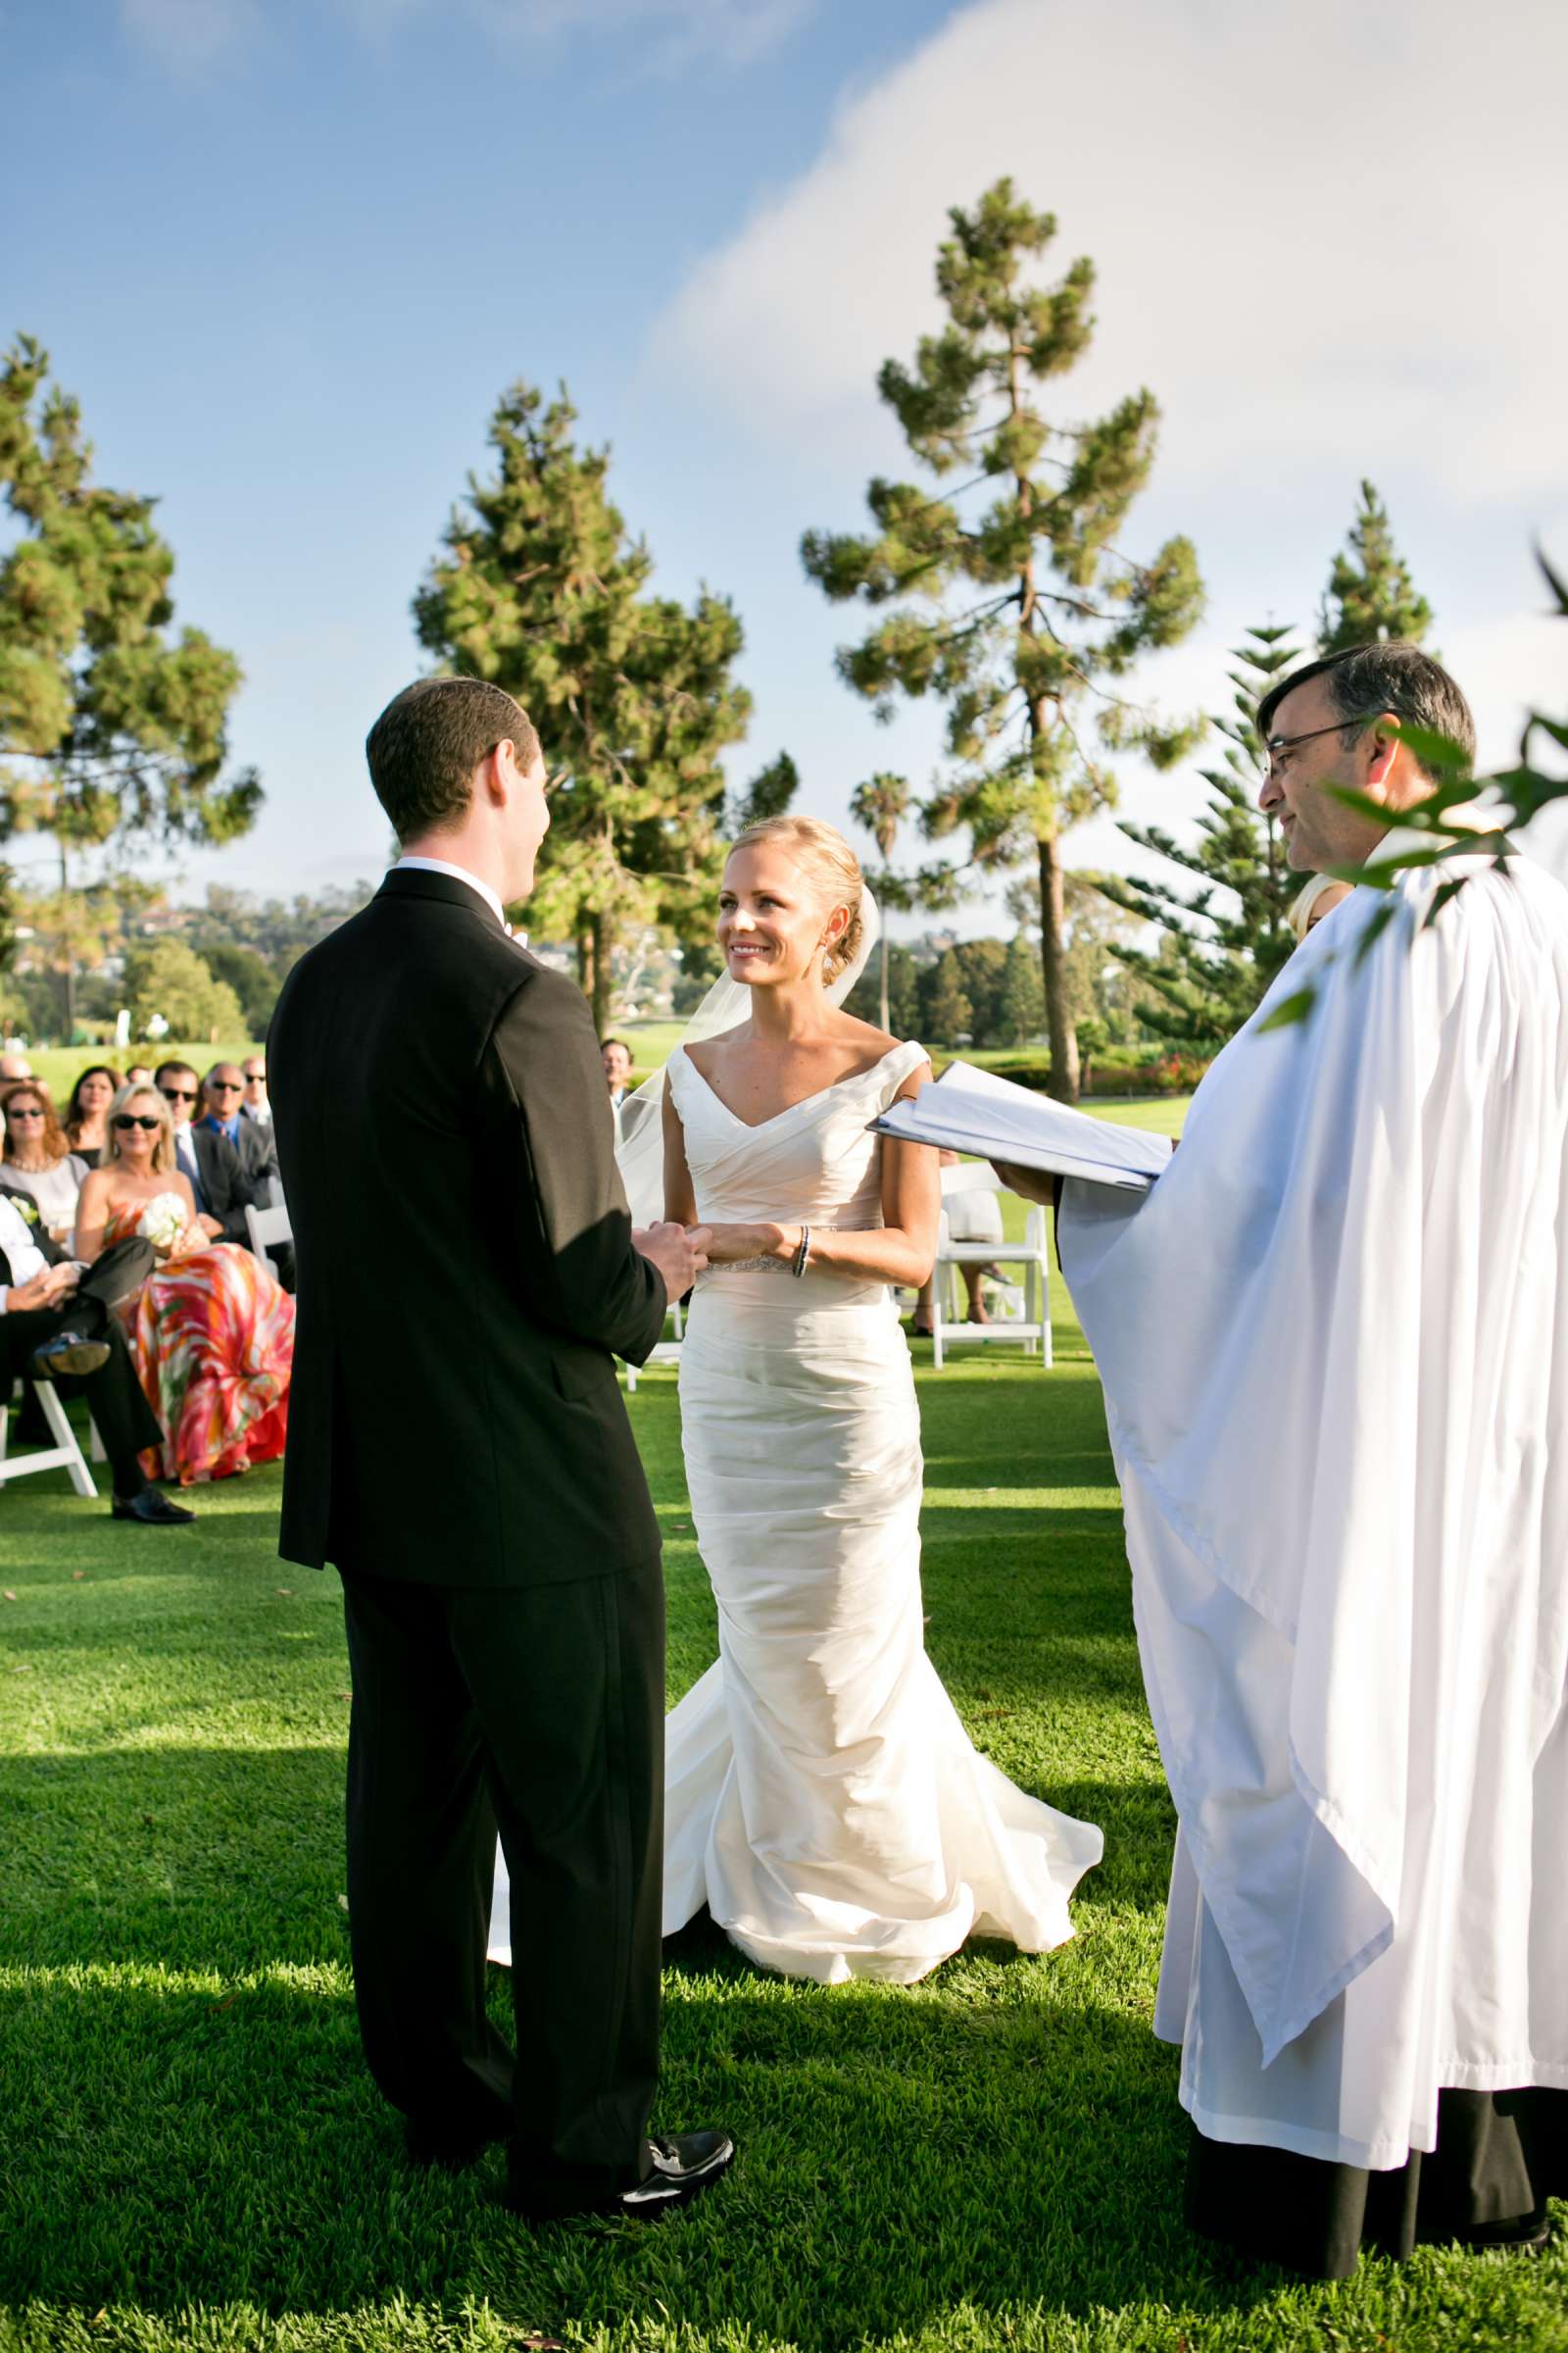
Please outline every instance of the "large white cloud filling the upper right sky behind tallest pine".
[{"label": "large white cloud filling the upper right sky behind tallest pine", "polygon": [[[1561,0],[1502,0],[1486,28],[1469,0],[973,0],[696,264],[646,388],[701,402],[715,445],[811,501],[802,522],[853,527],[846,487],[912,466],[875,376],[938,322],[947,207],[1011,172],[1058,214],[1046,268],[1098,268],[1093,351],[1046,407],[1157,393],[1159,520],[1128,544],[1187,529],[1211,581],[1201,635],[1135,689],[1227,708],[1246,624],[1305,638],[1371,473],[1481,758],[1507,762],[1526,706],[1563,708],[1568,656],[1568,624],[1528,607],[1530,529],[1561,553],[1568,525],[1566,78]],[[1190,828],[1201,779],[1119,767],[1126,816]],[[1535,842],[1568,861],[1568,819]],[[1140,864],[1110,819],[1070,859]]]}]

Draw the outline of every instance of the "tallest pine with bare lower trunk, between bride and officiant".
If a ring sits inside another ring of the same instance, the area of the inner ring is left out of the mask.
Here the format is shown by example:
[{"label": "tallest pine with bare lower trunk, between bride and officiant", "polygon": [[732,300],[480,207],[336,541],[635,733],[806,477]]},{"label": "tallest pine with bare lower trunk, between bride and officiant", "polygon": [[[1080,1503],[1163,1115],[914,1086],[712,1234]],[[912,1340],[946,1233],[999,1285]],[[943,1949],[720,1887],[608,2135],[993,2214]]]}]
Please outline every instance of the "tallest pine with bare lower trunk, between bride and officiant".
[{"label": "tallest pine with bare lower trunk, between bride and officiant", "polygon": [[[1027,280],[1056,221],[1009,179],[973,212],[954,207],[936,285],[947,325],[922,336],[914,367],[886,360],[879,393],[931,475],[971,480],[952,496],[872,480],[865,536],[806,532],[806,574],[832,600],[893,607],[839,652],[839,675],[879,718],[896,694],[947,706],[950,779],[926,807],[933,835],[969,828],[983,866],[1030,856],[1039,878],[1051,1089],[1077,1096],[1077,1038],[1065,986],[1063,831],[1114,800],[1114,776],[1086,741],[1098,706],[1100,751],[1138,748],[1168,767],[1192,741],[1117,696],[1147,652],[1197,624],[1204,586],[1187,539],[1150,562],[1117,546],[1154,464],[1159,407],[1143,391],[1107,416],[1051,426],[1034,386],[1088,348],[1093,264],[1053,287]],[[985,492],[978,511],[959,506]]]}]

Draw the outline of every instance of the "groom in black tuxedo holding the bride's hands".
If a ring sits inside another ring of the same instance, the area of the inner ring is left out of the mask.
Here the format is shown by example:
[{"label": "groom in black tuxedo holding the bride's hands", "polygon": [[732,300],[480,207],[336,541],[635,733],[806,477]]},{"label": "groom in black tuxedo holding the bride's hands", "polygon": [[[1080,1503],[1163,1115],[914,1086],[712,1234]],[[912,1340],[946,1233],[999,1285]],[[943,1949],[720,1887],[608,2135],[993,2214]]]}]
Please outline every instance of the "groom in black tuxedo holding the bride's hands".
[{"label": "groom in black tuxedo holding the bride's hands", "polygon": [[[663,1577],[614,1355],[649,1355],[701,1235],[632,1235],[588,1005],[503,920],[550,824],[529,718],[430,678],[367,755],[404,854],[268,1040],[299,1264],[282,1555],[343,1577],[360,2031],[418,2158],[505,2139],[520,2212],[656,2214],[733,2144],[646,2132]],[[484,2009],[496,1826],[515,2054]]]}]

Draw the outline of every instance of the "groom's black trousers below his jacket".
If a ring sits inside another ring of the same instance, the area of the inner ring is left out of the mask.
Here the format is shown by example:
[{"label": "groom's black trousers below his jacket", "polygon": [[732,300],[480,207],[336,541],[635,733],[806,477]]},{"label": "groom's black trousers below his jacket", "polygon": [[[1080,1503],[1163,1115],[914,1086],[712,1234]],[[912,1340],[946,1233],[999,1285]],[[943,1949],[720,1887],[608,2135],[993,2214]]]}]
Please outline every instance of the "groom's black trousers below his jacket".
[{"label": "groom's black trousers below his jacket", "polygon": [[[658,2080],[658,1560],[557,1586],[343,1577],[348,1913],[371,2073],[421,2139],[510,2139],[541,2209],[649,2169]],[[496,1826],[517,2054],[484,2009]]]}]

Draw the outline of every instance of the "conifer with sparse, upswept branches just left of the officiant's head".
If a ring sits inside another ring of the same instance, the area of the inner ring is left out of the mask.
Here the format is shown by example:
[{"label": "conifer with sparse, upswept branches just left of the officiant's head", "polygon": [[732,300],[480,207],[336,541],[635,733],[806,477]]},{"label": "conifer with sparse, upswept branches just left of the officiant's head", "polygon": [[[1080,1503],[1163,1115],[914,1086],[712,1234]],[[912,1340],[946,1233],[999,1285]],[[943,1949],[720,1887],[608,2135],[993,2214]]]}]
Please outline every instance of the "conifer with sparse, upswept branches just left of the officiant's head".
[{"label": "conifer with sparse, upswept branches just left of the officiant's head", "polygon": [[1208,807],[1197,840],[1178,842],[1161,826],[1121,826],[1140,849],[1182,866],[1201,887],[1095,878],[1119,908],[1161,927],[1157,953],[1135,946],[1114,953],[1143,984],[1140,1024],[1192,1054],[1215,1054],[1241,1028],[1295,948],[1288,915],[1302,878],[1286,866],[1274,819],[1258,809],[1262,746],[1253,725],[1272,682],[1300,661],[1288,640],[1288,628],[1248,628],[1232,652],[1232,708],[1211,722],[1225,739],[1225,758],[1201,769]]}]

